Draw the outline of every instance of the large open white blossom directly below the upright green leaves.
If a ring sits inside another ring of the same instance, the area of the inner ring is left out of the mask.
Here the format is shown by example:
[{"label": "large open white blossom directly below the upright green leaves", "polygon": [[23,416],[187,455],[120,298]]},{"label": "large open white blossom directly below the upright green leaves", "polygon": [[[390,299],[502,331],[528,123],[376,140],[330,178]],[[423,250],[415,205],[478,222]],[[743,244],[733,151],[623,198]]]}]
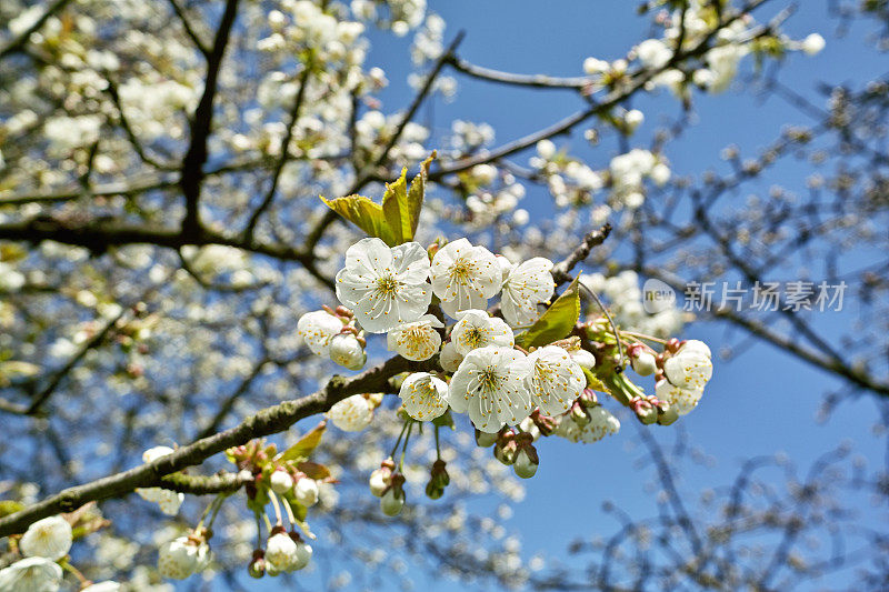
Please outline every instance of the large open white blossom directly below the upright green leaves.
[{"label": "large open white blossom directly below the upright green leaves", "polygon": [[432,300],[428,279],[429,255],[420,243],[390,249],[380,239],[361,239],[346,251],[337,298],[367,331],[382,333],[426,314]]}]

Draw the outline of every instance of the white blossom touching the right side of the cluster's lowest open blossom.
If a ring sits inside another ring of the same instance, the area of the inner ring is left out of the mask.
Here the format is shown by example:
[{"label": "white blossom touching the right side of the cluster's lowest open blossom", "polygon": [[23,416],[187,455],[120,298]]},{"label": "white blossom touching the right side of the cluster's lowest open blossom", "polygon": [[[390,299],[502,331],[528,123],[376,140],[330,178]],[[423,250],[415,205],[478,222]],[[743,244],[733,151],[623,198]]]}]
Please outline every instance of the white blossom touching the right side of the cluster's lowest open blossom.
[{"label": "white blossom touching the right side of the cluster's lowest open blossom", "polygon": [[525,363],[531,404],[539,407],[547,415],[559,415],[568,411],[587,384],[583,371],[558,345],[532,351]]}]

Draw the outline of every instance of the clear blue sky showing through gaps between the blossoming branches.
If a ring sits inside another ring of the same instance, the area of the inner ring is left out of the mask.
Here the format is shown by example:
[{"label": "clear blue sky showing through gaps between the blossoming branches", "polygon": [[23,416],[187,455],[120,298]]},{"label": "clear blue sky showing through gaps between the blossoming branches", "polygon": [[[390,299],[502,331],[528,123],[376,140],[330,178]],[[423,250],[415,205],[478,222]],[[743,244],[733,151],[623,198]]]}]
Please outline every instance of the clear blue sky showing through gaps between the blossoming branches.
[{"label": "clear blue sky showing through gaps between the blossoming branches", "polygon": [[[430,8],[448,22],[446,40],[452,39],[460,29],[467,31],[459,54],[471,62],[512,72],[578,76],[586,57],[615,59],[646,38],[650,26],[646,18],[635,14],[637,3],[627,0],[446,0],[430,1]],[[768,19],[787,3],[782,0],[768,3],[760,18]],[[847,38],[837,39],[832,34],[837,23],[828,19],[826,1],[798,4],[785,30],[795,38],[818,31],[828,39],[828,44],[815,58],[791,56],[780,74],[785,83],[805,96],[817,97],[815,89],[819,81],[855,83],[885,72],[885,58],[866,48],[863,32],[868,27],[856,27]],[[406,84],[410,40],[378,34],[371,39],[373,48],[368,66],[379,64],[387,70],[391,84],[382,94],[383,110],[391,112],[407,106],[412,97]],[[421,110],[422,117],[431,113],[438,133],[446,132],[455,118],[487,121],[497,130],[496,143],[499,144],[548,126],[581,106],[570,91],[503,89],[465,77],[458,79],[460,90],[453,103],[436,100],[431,112],[428,106]],[[642,137],[665,116],[679,112],[677,101],[666,93],[636,106],[647,116],[640,130]],[[726,167],[719,160],[719,151],[726,146],[738,144],[742,152],[752,153],[773,140],[783,124],[810,123],[805,114],[780,99],[763,102],[735,90],[718,97],[699,93],[696,113],[696,126],[668,147],[667,155],[678,174],[697,174],[708,168],[719,170]],[[557,143],[563,142],[581,152],[583,140],[579,134]],[[642,140],[640,146],[645,146]],[[607,144],[581,153],[598,165],[613,154],[612,147]],[[527,162],[527,158],[517,160]],[[798,164],[787,164],[779,171],[782,184],[791,190],[803,189],[803,170]],[[547,208],[538,205],[546,201],[541,191],[530,191],[522,207],[532,213],[546,213]],[[825,313],[819,323],[829,330],[837,323],[848,322],[848,317]],[[731,335],[721,327],[708,324],[692,325],[682,337],[702,339],[715,351],[722,343],[738,340],[737,332]],[[871,470],[883,462],[883,439],[871,431],[877,419],[872,400],[848,402],[829,421],[818,423],[816,414],[823,394],[841,389],[841,382],[762,344],[731,361],[716,360],[715,364],[715,377],[702,403],[681,424],[691,442],[713,455],[718,463],[706,470],[690,468],[683,475],[685,490],[695,492],[730,483],[741,462],[759,454],[786,452],[806,468],[843,440],[853,443],[856,452],[867,460]],[[650,390],[650,384],[647,387]],[[523,539],[528,555],[541,551],[551,556],[565,556],[566,544],[577,536],[589,539],[613,533],[616,522],[598,510],[606,500],[619,501],[625,510],[637,515],[656,513],[655,503],[645,491],[651,475],[635,465],[639,451],[631,450],[638,440],[631,424],[633,420],[626,414],[621,419],[625,423],[621,433],[597,444],[572,445],[548,439],[538,446],[541,456],[538,474],[525,483],[527,498],[515,505],[515,514],[507,523],[510,532]],[[672,441],[672,430],[655,427],[652,431],[659,440]],[[581,514],[567,511],[576,504],[582,504],[588,511]],[[417,570],[410,575],[428,590],[462,588]],[[272,589],[273,581],[263,580],[259,585]],[[397,586],[393,584],[392,589]]]}]

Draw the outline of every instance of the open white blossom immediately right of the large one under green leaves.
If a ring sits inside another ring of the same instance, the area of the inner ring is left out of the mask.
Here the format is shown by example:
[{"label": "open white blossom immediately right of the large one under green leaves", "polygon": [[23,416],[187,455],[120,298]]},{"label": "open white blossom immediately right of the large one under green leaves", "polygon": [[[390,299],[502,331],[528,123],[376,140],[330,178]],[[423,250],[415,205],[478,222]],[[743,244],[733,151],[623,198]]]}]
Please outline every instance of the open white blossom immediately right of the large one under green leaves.
[{"label": "open white blossom immediately right of the large one under green leaves", "polygon": [[486,309],[500,290],[502,274],[497,258],[467,239],[449,242],[432,258],[432,290],[441,310],[452,318],[469,309]]}]

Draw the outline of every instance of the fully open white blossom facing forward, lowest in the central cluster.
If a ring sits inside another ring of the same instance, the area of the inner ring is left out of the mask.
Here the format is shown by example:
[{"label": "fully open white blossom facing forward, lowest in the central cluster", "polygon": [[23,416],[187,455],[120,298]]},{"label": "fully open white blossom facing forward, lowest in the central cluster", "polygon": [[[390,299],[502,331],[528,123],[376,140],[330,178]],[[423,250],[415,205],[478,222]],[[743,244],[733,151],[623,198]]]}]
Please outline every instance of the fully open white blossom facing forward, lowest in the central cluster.
[{"label": "fully open white blossom facing forward, lowest in the central cluster", "polygon": [[469,413],[482,432],[500,431],[531,413],[531,397],[525,385],[520,351],[488,345],[470,351],[451,378],[448,400],[458,413]]}]

